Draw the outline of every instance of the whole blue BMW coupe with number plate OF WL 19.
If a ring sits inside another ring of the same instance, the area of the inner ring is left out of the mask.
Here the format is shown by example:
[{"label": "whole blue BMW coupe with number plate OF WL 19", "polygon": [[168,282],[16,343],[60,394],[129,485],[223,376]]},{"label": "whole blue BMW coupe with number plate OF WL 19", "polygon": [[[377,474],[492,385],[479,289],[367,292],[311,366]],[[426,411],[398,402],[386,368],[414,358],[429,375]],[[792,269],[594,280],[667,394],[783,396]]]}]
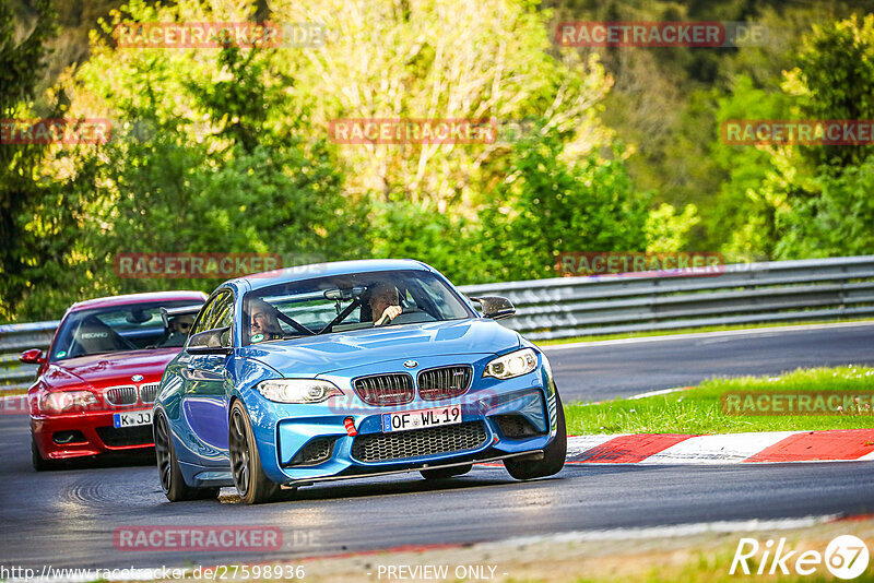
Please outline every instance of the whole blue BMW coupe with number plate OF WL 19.
[{"label": "whole blue BMW coupe with number plate OF WL 19", "polygon": [[322,480],[448,478],[495,461],[517,479],[556,474],[562,401],[543,353],[495,321],[513,313],[409,260],[222,284],[155,401],[164,492],[192,500],[235,486],[259,503]]}]

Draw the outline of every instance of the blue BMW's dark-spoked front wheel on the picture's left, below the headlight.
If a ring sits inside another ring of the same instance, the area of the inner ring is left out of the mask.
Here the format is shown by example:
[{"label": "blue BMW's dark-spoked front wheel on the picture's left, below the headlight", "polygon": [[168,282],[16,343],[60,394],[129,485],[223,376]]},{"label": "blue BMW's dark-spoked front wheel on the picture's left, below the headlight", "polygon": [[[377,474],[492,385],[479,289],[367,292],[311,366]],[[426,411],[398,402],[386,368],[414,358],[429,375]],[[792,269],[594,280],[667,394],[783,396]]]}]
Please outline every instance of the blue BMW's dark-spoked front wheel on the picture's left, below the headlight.
[{"label": "blue BMW's dark-spoked front wheel on the picture's left, below the headlight", "polygon": [[231,474],[234,476],[234,485],[237,487],[240,500],[247,504],[279,500],[285,492],[281,491],[279,484],[271,481],[264,475],[252,424],[240,401],[235,401],[231,407],[228,433]]}]

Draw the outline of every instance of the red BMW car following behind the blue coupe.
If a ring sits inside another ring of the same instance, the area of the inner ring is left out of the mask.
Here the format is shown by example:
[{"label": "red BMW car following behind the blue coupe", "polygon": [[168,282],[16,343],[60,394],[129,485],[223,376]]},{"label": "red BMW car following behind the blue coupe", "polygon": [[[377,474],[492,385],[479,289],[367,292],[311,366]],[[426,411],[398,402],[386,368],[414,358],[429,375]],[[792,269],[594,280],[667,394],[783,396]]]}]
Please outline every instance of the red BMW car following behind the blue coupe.
[{"label": "red BMW car following behind the blue coupe", "polygon": [[61,460],[154,448],[152,403],[164,368],[188,337],[201,291],[91,299],[63,316],[27,391],[34,468]]}]

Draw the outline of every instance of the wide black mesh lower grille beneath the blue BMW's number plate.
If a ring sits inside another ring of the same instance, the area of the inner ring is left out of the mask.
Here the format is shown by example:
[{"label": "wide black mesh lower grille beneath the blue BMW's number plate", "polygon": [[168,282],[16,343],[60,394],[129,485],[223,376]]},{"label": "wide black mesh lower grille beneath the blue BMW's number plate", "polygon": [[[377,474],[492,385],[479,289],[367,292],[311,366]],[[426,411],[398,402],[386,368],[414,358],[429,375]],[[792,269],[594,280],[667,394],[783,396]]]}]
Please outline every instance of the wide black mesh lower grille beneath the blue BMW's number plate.
[{"label": "wide black mesh lower grille beneath the blue BMW's number plate", "polygon": [[487,439],[483,421],[368,433],[355,438],[352,456],[364,463],[406,460],[475,450],[485,444]]}]

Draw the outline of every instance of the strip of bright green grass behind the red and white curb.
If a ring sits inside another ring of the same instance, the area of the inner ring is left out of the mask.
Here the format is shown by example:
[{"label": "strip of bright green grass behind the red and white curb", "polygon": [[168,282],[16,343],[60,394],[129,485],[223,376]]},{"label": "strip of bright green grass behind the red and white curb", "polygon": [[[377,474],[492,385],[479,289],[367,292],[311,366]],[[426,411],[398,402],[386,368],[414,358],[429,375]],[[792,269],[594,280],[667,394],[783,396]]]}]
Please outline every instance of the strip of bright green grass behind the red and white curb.
[{"label": "strip of bright green grass behind the red and white curb", "polygon": [[779,391],[874,393],[874,368],[799,369],[779,377],[710,379],[693,389],[642,398],[565,406],[568,433],[739,433],[746,431],[805,431],[874,428],[874,415],[864,400],[839,414],[728,415],[723,393]]}]

